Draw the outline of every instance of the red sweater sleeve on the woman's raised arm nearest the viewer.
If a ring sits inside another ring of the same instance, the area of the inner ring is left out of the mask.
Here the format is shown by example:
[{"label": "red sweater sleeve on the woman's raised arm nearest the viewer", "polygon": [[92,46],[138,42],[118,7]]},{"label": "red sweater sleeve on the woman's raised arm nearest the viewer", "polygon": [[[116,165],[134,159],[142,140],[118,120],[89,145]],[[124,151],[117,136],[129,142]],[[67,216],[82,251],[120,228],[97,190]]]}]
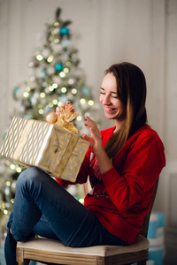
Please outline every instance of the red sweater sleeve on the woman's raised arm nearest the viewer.
[{"label": "red sweater sleeve on the woman's raised arm nearest the viewer", "polygon": [[[121,172],[119,156],[113,167],[102,175],[106,192],[119,212],[150,196],[160,171],[165,166],[165,154],[158,134],[149,130],[127,141],[127,153]],[[153,191],[152,191],[153,192]]]}]

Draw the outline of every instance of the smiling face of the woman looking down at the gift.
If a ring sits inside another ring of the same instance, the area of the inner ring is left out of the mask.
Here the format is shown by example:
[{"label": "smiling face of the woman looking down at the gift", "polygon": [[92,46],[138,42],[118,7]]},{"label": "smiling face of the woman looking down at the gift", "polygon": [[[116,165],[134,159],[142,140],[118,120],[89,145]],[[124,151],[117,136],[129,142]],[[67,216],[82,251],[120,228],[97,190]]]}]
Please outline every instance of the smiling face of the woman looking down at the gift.
[{"label": "smiling face of the woman looking down at the gift", "polygon": [[126,108],[119,101],[117,95],[117,82],[112,72],[104,76],[99,101],[104,108],[104,115],[108,119],[122,122],[126,118]]}]

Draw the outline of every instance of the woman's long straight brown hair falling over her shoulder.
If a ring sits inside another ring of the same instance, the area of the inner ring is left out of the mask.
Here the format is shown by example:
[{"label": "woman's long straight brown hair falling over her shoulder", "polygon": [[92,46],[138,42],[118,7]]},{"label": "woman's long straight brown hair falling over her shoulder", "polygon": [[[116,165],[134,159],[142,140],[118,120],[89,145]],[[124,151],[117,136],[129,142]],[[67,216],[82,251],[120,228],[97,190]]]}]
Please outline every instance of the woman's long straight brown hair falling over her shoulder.
[{"label": "woman's long straight brown hair falling over her shoulder", "polygon": [[106,71],[112,72],[117,82],[117,95],[127,110],[125,123],[108,140],[105,151],[112,158],[123,148],[128,137],[147,123],[145,108],[146,80],[142,70],[127,62],[112,64]]}]

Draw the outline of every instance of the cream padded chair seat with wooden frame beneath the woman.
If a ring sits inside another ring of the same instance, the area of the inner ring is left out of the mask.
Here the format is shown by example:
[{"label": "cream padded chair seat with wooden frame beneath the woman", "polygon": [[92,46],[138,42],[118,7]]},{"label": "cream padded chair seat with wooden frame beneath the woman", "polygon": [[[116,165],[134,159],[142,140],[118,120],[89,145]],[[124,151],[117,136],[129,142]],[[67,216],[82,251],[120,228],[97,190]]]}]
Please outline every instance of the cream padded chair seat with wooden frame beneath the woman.
[{"label": "cream padded chair seat with wooden frame beneath the woman", "polygon": [[[25,264],[27,259],[56,264],[125,264],[124,261],[134,261],[134,256],[137,261],[137,255],[139,261],[142,257],[148,259],[149,246],[149,240],[142,235],[138,235],[135,244],[130,246],[70,247],[57,240],[37,238],[18,242],[17,261],[19,264]],[[114,259],[114,263],[109,257]]]}]

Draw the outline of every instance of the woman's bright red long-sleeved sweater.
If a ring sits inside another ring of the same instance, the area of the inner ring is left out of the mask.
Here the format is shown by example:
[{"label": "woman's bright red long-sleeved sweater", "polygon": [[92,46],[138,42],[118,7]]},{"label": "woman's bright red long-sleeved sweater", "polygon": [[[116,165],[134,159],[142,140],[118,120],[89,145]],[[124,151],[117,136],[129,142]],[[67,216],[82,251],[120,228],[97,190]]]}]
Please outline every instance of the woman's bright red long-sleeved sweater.
[{"label": "woman's bright red long-sleeved sweater", "polygon": [[[103,145],[114,128],[101,132]],[[90,163],[93,156],[89,148],[76,181],[85,183],[89,176],[93,190],[85,197],[84,205],[108,231],[132,244],[141,231],[156,179],[165,166],[163,143],[149,125],[142,126],[113,157],[112,169],[97,178]],[[60,178],[57,181],[61,186],[72,184]]]}]

